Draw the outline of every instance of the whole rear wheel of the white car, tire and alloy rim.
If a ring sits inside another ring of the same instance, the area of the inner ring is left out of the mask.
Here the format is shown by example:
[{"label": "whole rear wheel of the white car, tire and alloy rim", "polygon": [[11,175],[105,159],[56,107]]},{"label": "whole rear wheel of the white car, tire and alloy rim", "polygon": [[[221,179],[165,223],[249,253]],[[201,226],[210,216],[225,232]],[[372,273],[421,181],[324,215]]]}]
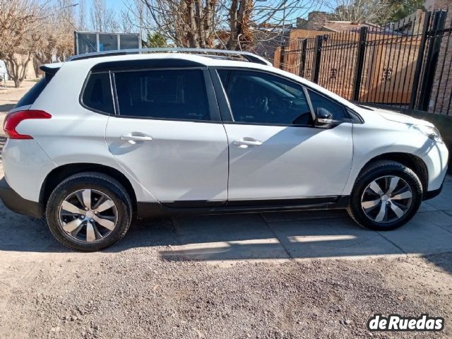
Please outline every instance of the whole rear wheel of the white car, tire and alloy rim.
[{"label": "whole rear wheel of the white car, tire and alloy rim", "polygon": [[65,246],[98,251],[129,230],[131,201],[124,187],[111,177],[81,173],[54,189],[46,218],[52,234]]}]

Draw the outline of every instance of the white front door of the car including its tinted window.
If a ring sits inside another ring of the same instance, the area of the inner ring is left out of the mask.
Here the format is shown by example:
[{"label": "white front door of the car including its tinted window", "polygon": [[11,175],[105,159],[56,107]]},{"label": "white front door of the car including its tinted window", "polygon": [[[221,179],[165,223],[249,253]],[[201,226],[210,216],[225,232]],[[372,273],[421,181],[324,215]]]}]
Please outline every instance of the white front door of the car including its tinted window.
[{"label": "white front door of the car including its tinted window", "polygon": [[[337,198],[352,165],[352,124],[344,107],[263,71],[218,69],[230,107],[230,204],[238,201]],[[314,100],[311,103],[309,97]],[[313,104],[316,107],[313,107]],[[314,126],[323,107],[343,120]]]}]

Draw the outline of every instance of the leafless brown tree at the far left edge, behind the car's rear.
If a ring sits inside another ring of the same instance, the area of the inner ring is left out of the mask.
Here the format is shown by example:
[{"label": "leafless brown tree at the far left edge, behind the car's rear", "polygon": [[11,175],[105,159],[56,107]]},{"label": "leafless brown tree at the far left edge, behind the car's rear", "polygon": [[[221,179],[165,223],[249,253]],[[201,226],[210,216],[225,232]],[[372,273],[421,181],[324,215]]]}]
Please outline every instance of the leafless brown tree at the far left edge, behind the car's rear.
[{"label": "leafless brown tree at the far left edge, behind the car's rear", "polygon": [[0,0],[0,59],[18,88],[32,61],[44,5],[39,0]]}]

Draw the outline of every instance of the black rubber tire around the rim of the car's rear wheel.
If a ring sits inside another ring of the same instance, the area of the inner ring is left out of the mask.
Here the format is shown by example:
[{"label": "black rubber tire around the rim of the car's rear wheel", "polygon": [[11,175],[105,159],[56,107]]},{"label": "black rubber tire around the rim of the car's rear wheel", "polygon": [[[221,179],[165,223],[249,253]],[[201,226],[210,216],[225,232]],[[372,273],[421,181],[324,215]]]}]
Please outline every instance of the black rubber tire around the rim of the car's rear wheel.
[{"label": "black rubber tire around the rim of the car's rear wheel", "polygon": [[[117,221],[114,230],[106,237],[96,239],[93,242],[78,241],[63,230],[60,222],[60,206],[64,200],[76,191],[93,189],[106,194],[113,202],[117,211]],[[117,180],[105,174],[96,172],[83,172],[65,179],[59,184],[47,201],[46,219],[50,231],[61,244],[77,251],[99,251],[118,242],[124,237],[131,224],[132,203],[124,186]]]}]

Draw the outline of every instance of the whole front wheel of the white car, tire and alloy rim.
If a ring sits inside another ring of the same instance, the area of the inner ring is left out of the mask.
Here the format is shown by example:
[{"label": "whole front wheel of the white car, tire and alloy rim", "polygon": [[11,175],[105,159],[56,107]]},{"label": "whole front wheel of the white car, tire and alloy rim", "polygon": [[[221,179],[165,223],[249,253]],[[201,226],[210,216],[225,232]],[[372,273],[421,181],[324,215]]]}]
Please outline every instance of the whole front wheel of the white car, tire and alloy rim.
[{"label": "whole front wheel of the white car, tire and alloy rim", "polygon": [[412,169],[393,161],[369,165],[358,177],[347,208],[359,225],[394,230],[405,225],[422,202],[422,184]]}]

